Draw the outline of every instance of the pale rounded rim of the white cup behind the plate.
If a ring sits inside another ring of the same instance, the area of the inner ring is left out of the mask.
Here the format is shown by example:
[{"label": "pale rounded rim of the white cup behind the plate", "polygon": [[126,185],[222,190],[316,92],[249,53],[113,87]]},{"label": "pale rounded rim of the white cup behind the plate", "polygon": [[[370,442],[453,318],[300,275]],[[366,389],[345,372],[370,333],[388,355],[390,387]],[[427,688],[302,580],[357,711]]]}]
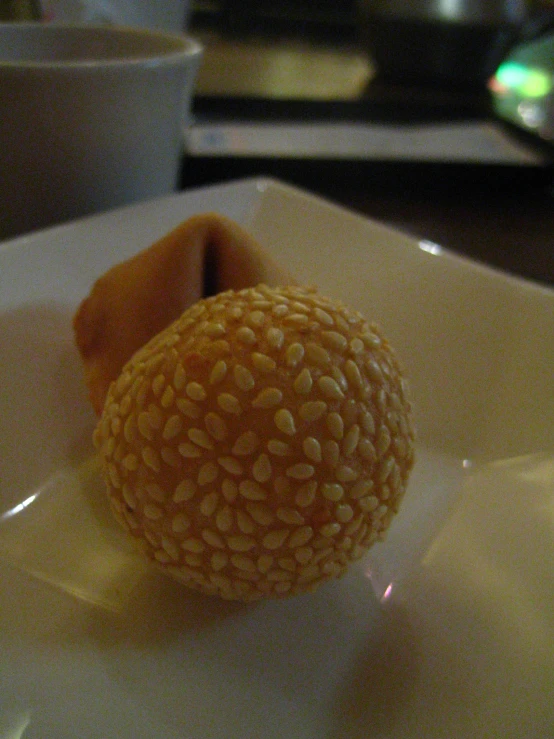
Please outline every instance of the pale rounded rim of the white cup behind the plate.
[{"label": "pale rounded rim of the white cup behind the plate", "polygon": [[143,66],[166,66],[178,64],[183,59],[199,57],[203,45],[194,37],[186,33],[180,34],[161,29],[145,28],[130,25],[103,25],[94,23],[57,23],[49,22],[8,22],[0,23],[0,38],[9,31],[21,30],[25,33],[33,32],[41,36],[59,32],[73,33],[77,38],[82,34],[95,34],[104,37],[144,37],[151,40],[166,41],[167,50],[163,48],[147,49],[145,52],[129,56],[106,56],[105,58],[86,57],[75,59],[2,59],[0,70],[93,70],[93,69],[125,69]]}]

